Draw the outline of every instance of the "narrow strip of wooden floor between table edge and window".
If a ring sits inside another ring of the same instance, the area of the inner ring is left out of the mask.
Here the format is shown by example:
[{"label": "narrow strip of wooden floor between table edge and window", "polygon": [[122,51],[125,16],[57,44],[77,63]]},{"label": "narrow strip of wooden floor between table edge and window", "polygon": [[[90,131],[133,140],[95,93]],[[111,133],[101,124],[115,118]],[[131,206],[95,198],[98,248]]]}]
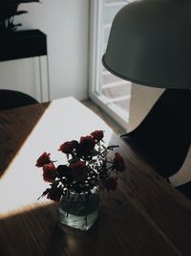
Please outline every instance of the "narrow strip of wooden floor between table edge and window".
[{"label": "narrow strip of wooden floor between table edge and window", "polygon": [[91,110],[93,110],[102,120],[105,121],[105,123],[112,128],[116,134],[122,134],[125,131],[120,128],[117,123],[112,120],[103,110],[101,110],[100,107],[98,107],[97,105],[95,105],[92,101],[83,101],[82,102],[83,105],[86,105],[88,108],[90,108]]}]

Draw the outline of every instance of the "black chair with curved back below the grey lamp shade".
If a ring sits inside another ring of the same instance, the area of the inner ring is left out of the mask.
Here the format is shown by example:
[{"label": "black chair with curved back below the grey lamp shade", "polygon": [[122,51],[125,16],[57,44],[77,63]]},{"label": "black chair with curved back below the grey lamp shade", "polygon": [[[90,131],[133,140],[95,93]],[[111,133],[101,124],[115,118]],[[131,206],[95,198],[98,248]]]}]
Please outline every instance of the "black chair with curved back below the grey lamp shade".
[{"label": "black chair with curved back below the grey lamp shade", "polygon": [[138,128],[121,137],[159,175],[176,174],[191,143],[191,90],[165,90]]}]

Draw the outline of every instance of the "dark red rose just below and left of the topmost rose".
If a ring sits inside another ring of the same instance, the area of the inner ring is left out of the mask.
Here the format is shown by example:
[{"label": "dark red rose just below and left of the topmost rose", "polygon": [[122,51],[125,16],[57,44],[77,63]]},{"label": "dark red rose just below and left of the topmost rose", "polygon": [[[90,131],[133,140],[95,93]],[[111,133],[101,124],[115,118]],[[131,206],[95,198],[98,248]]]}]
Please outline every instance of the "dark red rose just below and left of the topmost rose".
[{"label": "dark red rose just below and left of the topmost rose", "polygon": [[95,145],[96,140],[92,136],[81,137],[77,152],[83,156],[89,156],[91,151],[94,150]]}]

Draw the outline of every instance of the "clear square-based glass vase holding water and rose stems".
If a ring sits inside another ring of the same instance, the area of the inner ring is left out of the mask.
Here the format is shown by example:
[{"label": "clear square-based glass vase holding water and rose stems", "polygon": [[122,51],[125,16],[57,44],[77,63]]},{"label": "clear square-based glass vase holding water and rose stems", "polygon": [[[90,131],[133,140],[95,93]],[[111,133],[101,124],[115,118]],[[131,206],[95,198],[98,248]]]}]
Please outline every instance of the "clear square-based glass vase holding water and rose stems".
[{"label": "clear square-based glass vase holding water and rose stems", "polygon": [[96,221],[99,212],[99,195],[74,194],[62,197],[58,209],[58,219],[62,224],[88,230]]}]

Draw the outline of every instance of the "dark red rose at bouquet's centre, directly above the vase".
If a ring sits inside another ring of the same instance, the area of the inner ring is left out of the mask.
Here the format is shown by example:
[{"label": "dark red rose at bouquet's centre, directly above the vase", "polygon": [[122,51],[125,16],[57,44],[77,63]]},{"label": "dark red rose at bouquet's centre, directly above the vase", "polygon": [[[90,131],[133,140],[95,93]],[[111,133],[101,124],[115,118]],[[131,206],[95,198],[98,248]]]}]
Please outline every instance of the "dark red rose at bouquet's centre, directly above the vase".
[{"label": "dark red rose at bouquet's centre, directly above the vase", "polygon": [[71,166],[72,174],[74,179],[79,181],[82,180],[83,177],[86,175],[88,167],[84,161],[77,161],[76,163],[72,164]]}]

